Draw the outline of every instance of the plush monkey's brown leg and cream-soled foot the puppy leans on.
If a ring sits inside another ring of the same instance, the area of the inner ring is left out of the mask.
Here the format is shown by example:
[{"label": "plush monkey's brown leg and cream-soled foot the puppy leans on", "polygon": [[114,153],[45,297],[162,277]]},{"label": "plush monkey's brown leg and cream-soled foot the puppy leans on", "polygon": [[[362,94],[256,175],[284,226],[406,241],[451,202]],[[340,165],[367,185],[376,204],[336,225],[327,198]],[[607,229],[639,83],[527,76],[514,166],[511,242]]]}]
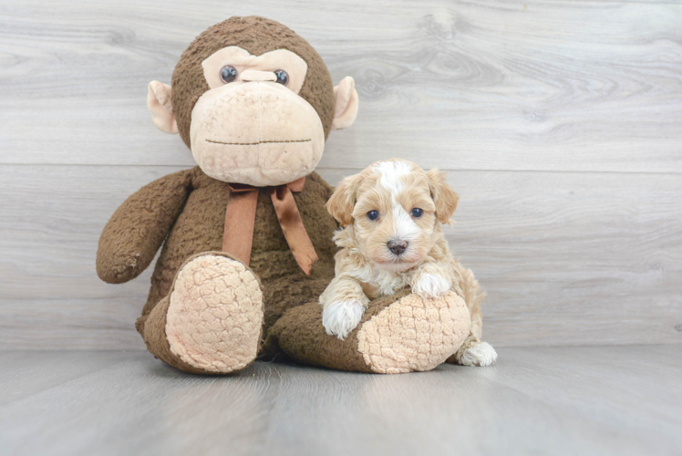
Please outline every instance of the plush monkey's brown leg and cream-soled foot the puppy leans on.
[{"label": "plush monkey's brown leg and cream-soled foot the puppy leans on", "polygon": [[326,334],[318,303],[287,310],[266,340],[306,364],[398,374],[438,367],[464,342],[470,325],[460,296],[423,298],[404,290],[370,302],[344,340]]}]

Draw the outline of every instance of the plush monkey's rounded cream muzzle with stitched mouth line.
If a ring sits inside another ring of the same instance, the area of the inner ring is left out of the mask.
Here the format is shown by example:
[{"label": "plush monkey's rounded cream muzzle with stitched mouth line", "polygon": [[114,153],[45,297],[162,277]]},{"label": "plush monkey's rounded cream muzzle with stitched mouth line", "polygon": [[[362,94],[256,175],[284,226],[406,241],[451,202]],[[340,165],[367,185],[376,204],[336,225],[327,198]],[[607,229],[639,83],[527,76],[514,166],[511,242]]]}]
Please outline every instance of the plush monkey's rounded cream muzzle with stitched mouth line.
[{"label": "plush monkey's rounded cream muzzle with stitched mouth line", "polygon": [[219,181],[282,185],[315,170],[325,131],[315,109],[274,82],[225,85],[191,111],[191,152]]}]

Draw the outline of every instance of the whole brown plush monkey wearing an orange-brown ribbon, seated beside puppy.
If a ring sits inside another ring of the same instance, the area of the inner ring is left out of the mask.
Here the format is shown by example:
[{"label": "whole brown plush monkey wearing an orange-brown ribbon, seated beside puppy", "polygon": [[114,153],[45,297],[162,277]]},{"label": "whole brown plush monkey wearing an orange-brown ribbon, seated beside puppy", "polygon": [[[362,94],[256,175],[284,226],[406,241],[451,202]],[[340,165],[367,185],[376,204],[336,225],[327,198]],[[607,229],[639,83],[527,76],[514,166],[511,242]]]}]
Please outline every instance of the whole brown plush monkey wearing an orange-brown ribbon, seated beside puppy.
[{"label": "whole brown plush monkey wearing an orange-brown ribbon, seated beside puppy", "polygon": [[325,334],[318,296],[334,276],[332,189],[315,172],[330,130],[356,118],[352,78],[334,87],[315,49],[263,17],[210,27],[172,86],[150,83],[160,130],[198,166],[151,182],[114,212],[99,277],[140,275],[163,245],[137,328],[176,368],[222,374],[259,356],[366,372],[429,370],[467,336],[457,295],[403,291],[372,302],[346,338]]}]

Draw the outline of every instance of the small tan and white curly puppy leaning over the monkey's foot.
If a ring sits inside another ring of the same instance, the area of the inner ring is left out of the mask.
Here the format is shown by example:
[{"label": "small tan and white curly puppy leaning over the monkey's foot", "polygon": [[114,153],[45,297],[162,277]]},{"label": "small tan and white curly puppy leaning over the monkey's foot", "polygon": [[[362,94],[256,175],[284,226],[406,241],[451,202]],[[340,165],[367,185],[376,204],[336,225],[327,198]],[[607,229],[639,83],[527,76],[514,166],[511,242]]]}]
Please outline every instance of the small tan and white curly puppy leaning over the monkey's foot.
[{"label": "small tan and white curly puppy leaning over the monkey's foot", "polygon": [[452,290],[471,315],[470,335],[454,360],[471,366],[495,361],[495,350],[480,341],[485,294],[454,260],[440,227],[451,223],[458,200],[444,173],[403,160],[377,161],[341,181],[326,204],[342,227],[334,236],[341,247],[336,277],[320,296],[327,334],[345,338],[380,295],[410,286],[428,299]]}]

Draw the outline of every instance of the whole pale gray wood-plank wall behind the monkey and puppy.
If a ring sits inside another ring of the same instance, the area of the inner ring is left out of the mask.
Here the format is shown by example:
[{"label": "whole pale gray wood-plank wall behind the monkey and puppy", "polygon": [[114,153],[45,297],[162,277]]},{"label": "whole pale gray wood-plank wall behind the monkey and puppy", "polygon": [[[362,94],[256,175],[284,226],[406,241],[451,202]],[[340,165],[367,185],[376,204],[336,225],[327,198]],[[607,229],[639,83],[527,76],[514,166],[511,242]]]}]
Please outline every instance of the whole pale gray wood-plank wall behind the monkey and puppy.
[{"label": "whole pale gray wood-plank wall behind the monkey and puppy", "polygon": [[140,186],[192,166],[145,106],[182,50],[268,16],[356,79],[333,184],[400,157],[448,171],[456,254],[498,346],[682,342],[682,5],[498,0],[3,0],[0,347],[143,348],[150,271],[95,274]]}]

